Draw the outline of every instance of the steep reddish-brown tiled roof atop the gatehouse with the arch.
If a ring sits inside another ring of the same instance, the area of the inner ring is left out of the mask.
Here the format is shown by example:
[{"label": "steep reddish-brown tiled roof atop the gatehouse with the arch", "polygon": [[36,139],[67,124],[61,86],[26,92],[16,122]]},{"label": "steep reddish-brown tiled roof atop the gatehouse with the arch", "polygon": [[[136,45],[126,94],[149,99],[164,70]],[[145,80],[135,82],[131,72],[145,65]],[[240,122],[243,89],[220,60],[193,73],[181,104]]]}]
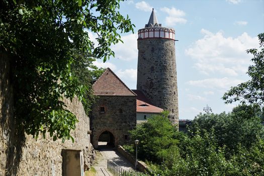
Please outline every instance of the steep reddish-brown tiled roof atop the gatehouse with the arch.
[{"label": "steep reddish-brown tiled roof atop the gatehouse with the arch", "polygon": [[97,96],[136,96],[110,68],[95,81],[93,91]]}]

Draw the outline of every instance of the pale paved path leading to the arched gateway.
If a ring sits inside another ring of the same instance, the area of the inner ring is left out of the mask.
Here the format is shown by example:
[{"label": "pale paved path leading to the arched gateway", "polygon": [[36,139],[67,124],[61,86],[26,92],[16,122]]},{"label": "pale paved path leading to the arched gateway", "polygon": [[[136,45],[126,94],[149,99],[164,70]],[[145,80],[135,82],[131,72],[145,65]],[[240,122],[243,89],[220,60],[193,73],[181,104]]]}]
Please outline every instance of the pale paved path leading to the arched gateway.
[{"label": "pale paved path leading to the arched gateway", "polygon": [[105,143],[99,142],[99,152],[97,152],[96,164],[94,165],[97,171],[97,176],[112,176],[110,171],[107,169],[107,159],[115,162],[124,170],[133,169],[133,165],[120,153],[113,150],[112,147],[102,144]]}]

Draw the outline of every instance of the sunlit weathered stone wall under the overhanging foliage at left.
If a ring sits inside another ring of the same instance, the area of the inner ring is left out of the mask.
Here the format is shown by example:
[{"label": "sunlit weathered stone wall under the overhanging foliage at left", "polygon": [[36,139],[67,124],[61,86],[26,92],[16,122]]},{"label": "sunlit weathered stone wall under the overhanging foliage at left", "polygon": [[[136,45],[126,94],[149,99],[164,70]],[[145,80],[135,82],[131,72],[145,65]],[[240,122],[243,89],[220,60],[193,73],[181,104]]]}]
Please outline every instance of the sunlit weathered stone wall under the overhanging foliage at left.
[{"label": "sunlit weathered stone wall under the overhanging foliage at left", "polygon": [[61,140],[52,141],[49,134],[46,139],[33,139],[17,129],[14,120],[13,90],[10,84],[10,65],[5,55],[0,55],[0,175],[62,175],[62,149],[83,151],[84,168],[90,167],[94,158],[94,149],[90,142],[89,118],[82,104],[73,99],[64,100],[68,109],[79,122],[72,132],[74,143]]}]

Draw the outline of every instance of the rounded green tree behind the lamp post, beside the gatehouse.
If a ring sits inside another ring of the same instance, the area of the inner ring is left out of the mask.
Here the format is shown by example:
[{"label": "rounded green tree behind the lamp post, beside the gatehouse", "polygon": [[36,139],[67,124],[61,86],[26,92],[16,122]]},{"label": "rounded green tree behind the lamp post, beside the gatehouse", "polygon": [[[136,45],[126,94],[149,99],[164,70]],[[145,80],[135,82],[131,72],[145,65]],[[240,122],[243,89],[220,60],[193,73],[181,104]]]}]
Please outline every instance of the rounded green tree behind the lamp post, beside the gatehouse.
[{"label": "rounded green tree behind the lamp post, beside the gatehouse", "polygon": [[178,147],[175,147],[179,143],[177,127],[172,126],[167,117],[168,112],[153,116],[130,132],[132,140],[140,141],[140,158],[161,163],[179,155]]}]

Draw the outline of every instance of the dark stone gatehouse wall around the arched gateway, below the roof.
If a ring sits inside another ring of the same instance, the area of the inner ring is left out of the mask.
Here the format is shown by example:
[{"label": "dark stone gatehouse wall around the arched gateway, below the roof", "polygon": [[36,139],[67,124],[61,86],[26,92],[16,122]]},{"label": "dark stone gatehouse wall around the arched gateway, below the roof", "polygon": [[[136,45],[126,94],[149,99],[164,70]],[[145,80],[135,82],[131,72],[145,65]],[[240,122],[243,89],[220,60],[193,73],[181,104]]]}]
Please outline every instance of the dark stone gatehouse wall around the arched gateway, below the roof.
[{"label": "dark stone gatehouse wall around the arched gateway, below the roof", "polygon": [[[105,107],[105,113],[100,112],[100,107]],[[95,148],[105,131],[114,135],[115,146],[129,142],[128,131],[136,126],[136,97],[101,96],[93,105],[92,113],[92,144]]]}]

